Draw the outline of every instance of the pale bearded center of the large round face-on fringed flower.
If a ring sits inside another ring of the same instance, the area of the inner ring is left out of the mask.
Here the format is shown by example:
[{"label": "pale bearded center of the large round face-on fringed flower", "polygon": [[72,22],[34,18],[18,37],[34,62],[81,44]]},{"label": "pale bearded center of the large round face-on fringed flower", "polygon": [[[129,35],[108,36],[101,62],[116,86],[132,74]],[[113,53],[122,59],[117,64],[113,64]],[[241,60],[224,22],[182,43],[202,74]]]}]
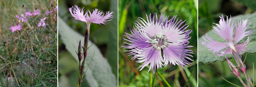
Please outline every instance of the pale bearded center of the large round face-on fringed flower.
[{"label": "pale bearded center of the large round face-on fringed flower", "polygon": [[165,49],[169,45],[168,38],[161,34],[154,35],[151,40],[146,42],[150,42],[150,45],[158,51]]}]

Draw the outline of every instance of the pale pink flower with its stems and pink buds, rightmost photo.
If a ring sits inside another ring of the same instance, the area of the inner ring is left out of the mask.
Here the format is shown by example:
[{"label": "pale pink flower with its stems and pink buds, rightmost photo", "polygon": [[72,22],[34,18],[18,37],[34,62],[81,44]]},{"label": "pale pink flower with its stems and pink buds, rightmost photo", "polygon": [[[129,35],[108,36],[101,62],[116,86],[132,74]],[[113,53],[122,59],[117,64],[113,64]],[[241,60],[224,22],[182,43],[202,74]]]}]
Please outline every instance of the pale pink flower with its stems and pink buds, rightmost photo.
[{"label": "pale pink flower with its stems and pink buds, rightmost photo", "polygon": [[[233,19],[232,25],[230,26],[230,22],[232,20],[231,17],[230,17],[230,19],[228,19],[228,16],[227,16],[227,20],[226,20],[227,22],[226,22],[223,15],[221,15],[219,24],[216,24],[218,28],[215,26],[212,27],[212,28],[214,28],[214,32],[216,32],[219,36],[221,36],[227,42],[217,42],[217,41],[211,39],[206,34],[206,36],[202,37],[206,42],[200,41],[200,43],[205,45],[205,47],[209,48],[208,50],[211,50],[213,52],[213,54],[216,55],[216,57],[232,53],[234,56],[234,59],[236,60],[237,66],[234,66],[234,64],[226,58],[232,73],[240,80],[240,82],[243,84],[244,87],[253,87],[250,77],[246,74],[246,66],[244,64],[244,61],[242,61],[242,59],[241,59],[241,57],[242,57],[241,51],[245,51],[248,49],[246,46],[247,43],[249,42],[249,38],[250,38],[250,36],[248,36],[248,35],[250,35],[252,33],[253,28],[246,31],[246,29],[248,28],[248,26],[251,23],[249,23],[247,25],[248,18],[246,20],[242,20],[242,21],[241,21],[241,19],[240,20],[239,19],[238,19],[238,24]],[[235,28],[235,35],[233,37],[234,28]],[[247,40],[245,42],[243,42],[242,44],[238,44],[238,42],[241,39],[243,39],[245,36],[248,36]],[[225,49],[225,48],[226,48],[226,51],[221,51],[222,49]],[[220,52],[220,54],[219,54],[219,52]],[[238,69],[240,69],[241,72],[245,75],[247,83],[248,83],[247,85],[241,79],[240,72]],[[247,77],[248,77],[248,79],[247,79]]]}]

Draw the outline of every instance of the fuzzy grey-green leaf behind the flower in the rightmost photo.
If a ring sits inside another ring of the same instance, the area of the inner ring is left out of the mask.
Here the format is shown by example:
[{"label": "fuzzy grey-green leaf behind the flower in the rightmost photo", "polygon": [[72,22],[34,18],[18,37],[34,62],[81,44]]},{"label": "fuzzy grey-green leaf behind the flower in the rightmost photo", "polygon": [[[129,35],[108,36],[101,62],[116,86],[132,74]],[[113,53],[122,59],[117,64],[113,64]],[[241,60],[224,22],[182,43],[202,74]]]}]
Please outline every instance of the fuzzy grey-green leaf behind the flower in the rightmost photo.
[{"label": "fuzzy grey-green leaf behind the flower in the rightmost photo", "polygon": [[[246,31],[252,29],[256,25],[256,13],[249,14],[249,15],[238,15],[238,16],[232,17],[232,20],[234,18],[237,23],[237,18],[239,19],[239,17],[241,18],[241,21],[245,20],[249,17],[247,24],[252,22],[252,24],[250,24],[250,26],[247,28]],[[253,28],[253,29],[255,29],[255,28]],[[235,32],[235,30],[233,31],[233,36],[234,36],[234,32]],[[213,32],[212,30],[207,32],[207,35],[210,36],[215,41],[225,42],[225,40],[223,38],[218,36],[218,34]],[[247,37],[248,36],[244,37],[240,42],[238,42],[238,44],[241,44],[244,41],[246,41]],[[205,40],[202,37],[200,37],[200,38],[198,38],[198,41],[205,41]],[[242,55],[244,55],[246,53],[255,53],[256,52],[256,44],[255,43],[256,43],[256,31],[254,30],[253,33],[250,35],[250,40],[249,40],[248,44],[246,45],[248,50],[242,51]],[[225,51],[225,50],[226,49],[223,49],[223,51]],[[208,48],[206,48],[205,45],[202,45],[200,42],[198,43],[198,63],[206,64],[206,63],[211,63],[211,62],[216,62],[216,61],[223,62],[226,60],[225,56],[228,59],[231,59],[233,57],[232,54],[226,54],[224,56],[216,57],[212,53],[213,52],[211,50],[208,50]]]}]

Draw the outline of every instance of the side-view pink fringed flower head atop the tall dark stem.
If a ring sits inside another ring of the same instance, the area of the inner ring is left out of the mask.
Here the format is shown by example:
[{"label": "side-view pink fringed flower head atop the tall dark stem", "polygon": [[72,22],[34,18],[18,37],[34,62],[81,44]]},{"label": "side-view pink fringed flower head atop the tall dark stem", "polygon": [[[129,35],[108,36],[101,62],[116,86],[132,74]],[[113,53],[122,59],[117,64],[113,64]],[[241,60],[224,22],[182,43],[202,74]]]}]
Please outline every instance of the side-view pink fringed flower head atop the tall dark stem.
[{"label": "side-view pink fringed flower head atop the tall dark stem", "polygon": [[[102,11],[98,11],[98,9],[96,9],[96,8],[95,8],[95,10],[93,10],[92,13],[88,10],[84,14],[83,8],[80,9],[80,7],[75,5],[75,6],[72,6],[71,8],[69,8],[69,11],[70,11],[72,17],[74,17],[74,19],[84,21],[87,24],[90,24],[90,23],[105,24],[106,21],[112,20],[109,18],[113,18],[113,15],[112,15],[113,12],[108,11],[104,15],[104,13]],[[107,20],[107,19],[109,19],[109,20]]]}]

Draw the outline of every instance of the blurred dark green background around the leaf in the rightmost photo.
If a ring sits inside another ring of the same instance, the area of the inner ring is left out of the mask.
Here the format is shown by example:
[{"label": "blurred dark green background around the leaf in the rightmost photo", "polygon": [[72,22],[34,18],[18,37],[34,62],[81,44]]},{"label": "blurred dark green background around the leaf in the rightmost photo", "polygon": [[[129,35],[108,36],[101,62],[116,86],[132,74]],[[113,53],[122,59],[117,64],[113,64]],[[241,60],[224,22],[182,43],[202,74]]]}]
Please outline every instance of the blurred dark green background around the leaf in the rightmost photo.
[{"label": "blurred dark green background around the leaf in the rightmost photo", "polygon": [[[202,37],[206,32],[212,30],[212,23],[219,24],[219,16],[223,14],[224,16],[234,17],[237,15],[247,15],[255,13],[256,10],[255,0],[198,0],[198,37]],[[242,19],[242,18],[241,18]],[[250,19],[250,18],[249,18]],[[225,17],[226,20],[226,17]],[[254,20],[252,20],[254,21]],[[248,21],[250,23],[250,21]],[[248,23],[247,23],[248,24]],[[251,24],[255,26],[254,24]],[[251,40],[252,38],[250,38]],[[198,43],[201,44],[201,43]],[[250,49],[250,48],[249,48]],[[200,54],[199,54],[200,55]],[[242,56],[242,60],[246,55]],[[253,76],[253,63],[256,54],[247,54],[246,57],[246,70],[247,75]],[[230,59],[234,64],[234,58]],[[226,80],[235,83],[236,85],[242,86],[239,79],[235,77],[228,67],[227,61],[224,62],[214,62],[209,64],[199,64],[198,65],[198,86],[199,87],[231,87],[234,86]],[[240,72],[242,79],[245,81],[244,75]],[[247,83],[246,83],[247,84]]]}]

